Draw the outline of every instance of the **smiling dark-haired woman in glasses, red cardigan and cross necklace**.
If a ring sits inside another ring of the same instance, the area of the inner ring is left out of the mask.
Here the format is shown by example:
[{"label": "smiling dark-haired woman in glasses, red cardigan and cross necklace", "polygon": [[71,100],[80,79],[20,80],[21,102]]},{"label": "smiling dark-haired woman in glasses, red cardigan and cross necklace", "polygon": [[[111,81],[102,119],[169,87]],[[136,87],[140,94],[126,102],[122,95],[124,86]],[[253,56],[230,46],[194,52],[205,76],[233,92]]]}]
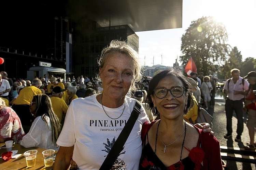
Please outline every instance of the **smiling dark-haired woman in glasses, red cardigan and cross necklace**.
[{"label": "smiling dark-haired woman in glasses, red cardigan and cross necklace", "polygon": [[150,81],[146,103],[160,120],[142,126],[140,170],[221,170],[219,141],[183,120],[194,102],[193,87],[178,69]]}]

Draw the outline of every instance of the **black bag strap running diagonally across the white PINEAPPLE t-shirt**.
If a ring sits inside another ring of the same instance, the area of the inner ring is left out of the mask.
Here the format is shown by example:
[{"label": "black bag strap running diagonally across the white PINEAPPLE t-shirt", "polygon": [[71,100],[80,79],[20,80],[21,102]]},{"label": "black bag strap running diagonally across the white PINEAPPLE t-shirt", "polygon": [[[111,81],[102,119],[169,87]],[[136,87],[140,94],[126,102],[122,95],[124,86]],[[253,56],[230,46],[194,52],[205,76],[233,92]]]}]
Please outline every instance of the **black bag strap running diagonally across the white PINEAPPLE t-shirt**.
[{"label": "black bag strap running diagonally across the white PINEAPPLE t-shirt", "polygon": [[139,117],[139,114],[141,114],[140,110],[141,110],[141,103],[138,100],[136,100],[136,103],[133,108],[133,111],[131,112],[130,118],[128,119],[126,125],[124,126],[124,129],[116,139],[116,142],[114,143],[113,147],[111,148],[109,154],[105,158],[99,170],[110,170],[112,168],[116,158],[119,156],[119,153],[123,150],[125,142],[128,136],[130,135],[131,130],[136,120]]}]

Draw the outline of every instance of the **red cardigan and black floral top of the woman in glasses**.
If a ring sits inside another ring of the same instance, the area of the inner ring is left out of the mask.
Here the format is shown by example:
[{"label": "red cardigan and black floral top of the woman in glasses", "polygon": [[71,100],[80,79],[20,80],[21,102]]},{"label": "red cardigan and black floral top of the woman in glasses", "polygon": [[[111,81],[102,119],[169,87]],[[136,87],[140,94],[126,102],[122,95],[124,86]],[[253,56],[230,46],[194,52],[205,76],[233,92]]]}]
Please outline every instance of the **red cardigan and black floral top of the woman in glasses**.
[{"label": "red cardigan and black floral top of the woman in glasses", "polygon": [[[157,156],[154,157],[154,151],[152,150],[149,143],[145,145],[147,132],[154,122],[155,121],[152,121],[151,123],[144,123],[142,125],[141,140],[144,148],[142,150],[142,156],[140,160],[140,170],[148,170],[152,166],[154,166],[154,169],[158,168],[159,170],[179,169],[180,162],[177,162],[170,167],[165,167],[165,165],[162,164]],[[196,126],[194,127],[199,133],[197,147],[191,149],[188,157],[181,160],[180,169],[222,170],[223,167],[221,161],[221,149],[219,147],[219,141],[209,132],[203,133],[201,129],[198,129]],[[203,167],[201,166],[201,162],[203,162]]]}]

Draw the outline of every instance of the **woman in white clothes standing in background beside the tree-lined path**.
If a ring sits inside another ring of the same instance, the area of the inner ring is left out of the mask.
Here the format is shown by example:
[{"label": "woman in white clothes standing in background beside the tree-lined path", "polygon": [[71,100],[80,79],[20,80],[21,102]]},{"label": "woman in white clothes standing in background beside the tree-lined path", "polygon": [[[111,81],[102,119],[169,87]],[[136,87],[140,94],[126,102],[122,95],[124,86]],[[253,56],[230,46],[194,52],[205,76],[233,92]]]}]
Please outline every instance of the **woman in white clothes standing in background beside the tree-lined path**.
[{"label": "woman in white clothes standing in background beside the tree-lined path", "polygon": [[201,92],[203,96],[203,102],[205,110],[208,110],[208,105],[211,101],[211,90],[213,89],[212,83],[210,82],[209,76],[204,76],[203,82],[201,84]]}]

